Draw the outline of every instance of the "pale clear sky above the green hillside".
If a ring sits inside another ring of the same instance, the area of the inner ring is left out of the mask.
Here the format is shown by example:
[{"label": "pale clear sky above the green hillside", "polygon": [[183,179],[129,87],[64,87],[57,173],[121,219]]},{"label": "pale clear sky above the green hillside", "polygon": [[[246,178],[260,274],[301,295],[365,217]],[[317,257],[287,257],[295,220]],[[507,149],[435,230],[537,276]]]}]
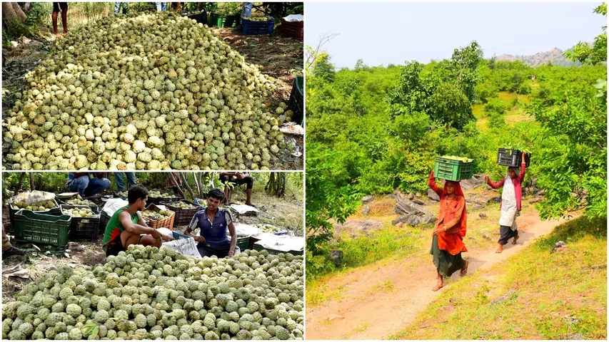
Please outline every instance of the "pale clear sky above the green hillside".
[{"label": "pale clear sky above the green hillside", "polygon": [[337,68],[451,58],[475,40],[484,57],[533,55],[593,41],[607,24],[593,3],[306,3],[306,44],[323,46]]}]

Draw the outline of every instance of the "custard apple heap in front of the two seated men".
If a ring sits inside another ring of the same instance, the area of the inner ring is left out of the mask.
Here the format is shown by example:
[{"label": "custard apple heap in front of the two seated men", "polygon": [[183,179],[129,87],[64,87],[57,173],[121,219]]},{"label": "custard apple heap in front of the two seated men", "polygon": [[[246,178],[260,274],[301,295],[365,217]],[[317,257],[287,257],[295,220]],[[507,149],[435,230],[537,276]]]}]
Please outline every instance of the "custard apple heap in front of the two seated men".
[{"label": "custard apple heap in front of the two seated men", "polygon": [[2,305],[2,338],[282,339],[303,336],[303,259],[245,251],[194,259],[131,246],[62,267]]}]

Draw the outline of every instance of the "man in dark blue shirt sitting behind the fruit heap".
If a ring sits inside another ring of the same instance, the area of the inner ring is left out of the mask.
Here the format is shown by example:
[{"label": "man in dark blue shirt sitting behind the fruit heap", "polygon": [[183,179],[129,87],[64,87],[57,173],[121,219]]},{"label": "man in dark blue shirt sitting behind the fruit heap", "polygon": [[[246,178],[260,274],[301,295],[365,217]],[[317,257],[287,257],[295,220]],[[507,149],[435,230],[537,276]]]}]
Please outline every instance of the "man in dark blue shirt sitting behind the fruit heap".
[{"label": "man in dark blue shirt sitting behind the fruit heap", "polygon": [[[233,215],[228,209],[220,208],[224,199],[224,192],[218,188],[209,191],[207,207],[197,212],[191,223],[188,224],[186,235],[190,235],[193,229],[199,228],[198,236],[193,236],[201,257],[218,258],[233,257],[237,244],[237,232],[233,224]],[[227,234],[231,233],[231,239]]]}]

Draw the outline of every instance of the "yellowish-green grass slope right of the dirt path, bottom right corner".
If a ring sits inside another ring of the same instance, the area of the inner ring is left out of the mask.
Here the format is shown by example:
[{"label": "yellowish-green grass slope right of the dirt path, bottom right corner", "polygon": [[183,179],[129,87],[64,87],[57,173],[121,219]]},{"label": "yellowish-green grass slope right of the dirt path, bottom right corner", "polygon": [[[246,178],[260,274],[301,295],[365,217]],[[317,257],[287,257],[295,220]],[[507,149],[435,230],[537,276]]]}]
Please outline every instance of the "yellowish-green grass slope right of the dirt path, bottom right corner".
[{"label": "yellowish-green grass slope right of the dirt path, bottom right corner", "polygon": [[[550,253],[555,242],[563,252]],[[512,292],[510,292],[510,290]],[[509,295],[508,295],[509,294]],[[506,296],[508,295],[508,296]],[[493,304],[493,300],[502,301]],[[448,286],[393,339],[606,339],[607,224],[574,219]]]}]

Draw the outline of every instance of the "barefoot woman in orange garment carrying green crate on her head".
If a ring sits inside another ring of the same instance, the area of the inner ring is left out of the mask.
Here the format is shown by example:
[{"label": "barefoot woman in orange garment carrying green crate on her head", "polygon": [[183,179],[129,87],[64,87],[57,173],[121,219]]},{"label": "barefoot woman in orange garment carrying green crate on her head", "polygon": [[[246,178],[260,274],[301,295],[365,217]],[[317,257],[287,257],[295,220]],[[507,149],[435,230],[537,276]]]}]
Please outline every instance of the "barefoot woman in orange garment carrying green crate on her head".
[{"label": "barefoot woman in orange garment carrying green crate on her head", "polygon": [[431,170],[428,185],[440,197],[440,214],[431,241],[433,265],[438,271],[438,283],[432,291],[438,291],[444,286],[445,276],[450,277],[459,269],[461,276],[468,273],[469,262],[461,257],[461,252],[468,252],[463,244],[467,232],[467,210],[459,182],[447,180],[443,188],[438,187]]}]

